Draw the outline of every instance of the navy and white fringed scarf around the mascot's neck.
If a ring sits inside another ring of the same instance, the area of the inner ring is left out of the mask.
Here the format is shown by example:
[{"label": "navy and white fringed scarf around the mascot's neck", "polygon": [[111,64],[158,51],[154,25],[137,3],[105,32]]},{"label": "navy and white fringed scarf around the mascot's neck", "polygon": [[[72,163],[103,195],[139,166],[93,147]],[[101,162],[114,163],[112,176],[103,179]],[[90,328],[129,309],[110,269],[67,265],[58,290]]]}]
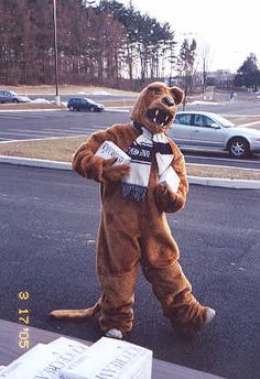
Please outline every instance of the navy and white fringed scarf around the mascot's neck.
[{"label": "navy and white fringed scarf around the mascot's neck", "polygon": [[164,133],[153,134],[142,126],[140,134],[128,149],[127,154],[131,158],[130,173],[122,182],[122,196],[133,201],[143,201],[145,197],[152,159],[155,156],[159,177],[171,165],[173,152]]}]

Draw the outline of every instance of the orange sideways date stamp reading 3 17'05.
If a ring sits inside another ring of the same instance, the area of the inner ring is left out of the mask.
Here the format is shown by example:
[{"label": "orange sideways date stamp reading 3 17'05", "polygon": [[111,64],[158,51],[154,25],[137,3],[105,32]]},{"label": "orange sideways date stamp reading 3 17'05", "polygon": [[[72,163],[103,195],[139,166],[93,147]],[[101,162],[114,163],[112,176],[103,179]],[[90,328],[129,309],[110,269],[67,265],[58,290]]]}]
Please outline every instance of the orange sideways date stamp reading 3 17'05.
[{"label": "orange sideways date stamp reading 3 17'05", "polygon": [[20,291],[18,293],[18,299],[20,301],[21,307],[18,310],[19,323],[22,328],[18,334],[18,345],[21,349],[28,349],[30,347],[30,310],[28,310],[26,302],[30,299],[30,293],[28,291]]}]

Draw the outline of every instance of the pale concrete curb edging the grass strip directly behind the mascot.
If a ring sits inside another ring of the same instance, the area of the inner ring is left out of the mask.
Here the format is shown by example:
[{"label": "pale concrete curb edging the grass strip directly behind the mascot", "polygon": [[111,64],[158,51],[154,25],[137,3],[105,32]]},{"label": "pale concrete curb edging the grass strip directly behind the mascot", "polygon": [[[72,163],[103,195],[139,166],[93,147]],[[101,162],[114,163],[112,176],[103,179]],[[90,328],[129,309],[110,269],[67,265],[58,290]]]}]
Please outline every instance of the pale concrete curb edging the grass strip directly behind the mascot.
[{"label": "pale concrete curb edging the grass strip directly behind the mascot", "polygon": [[[0,163],[24,165],[39,169],[53,169],[72,171],[72,164],[67,162],[48,161],[31,158],[0,155]],[[208,187],[225,187],[234,190],[260,190],[260,181],[232,180],[220,177],[187,176],[189,184]]]}]

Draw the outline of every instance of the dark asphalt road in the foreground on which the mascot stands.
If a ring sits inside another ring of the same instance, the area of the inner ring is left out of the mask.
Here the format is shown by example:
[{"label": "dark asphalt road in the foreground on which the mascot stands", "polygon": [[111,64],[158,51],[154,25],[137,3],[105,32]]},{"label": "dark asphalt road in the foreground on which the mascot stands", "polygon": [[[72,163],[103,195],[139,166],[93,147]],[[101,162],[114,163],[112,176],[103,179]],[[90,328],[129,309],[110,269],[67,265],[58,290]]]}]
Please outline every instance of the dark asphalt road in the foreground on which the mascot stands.
[{"label": "dark asphalt road in the foreground on which the mascot stands", "polygon": [[[0,318],[96,340],[96,320],[51,321],[58,307],[85,307],[99,296],[95,240],[97,184],[73,172],[0,164]],[[260,375],[260,193],[191,186],[185,209],[169,215],[181,264],[201,302],[217,311],[193,342],[162,316],[151,286],[137,284],[134,328],[129,340],[156,358],[229,379]],[[28,302],[18,300],[28,291]]]}]

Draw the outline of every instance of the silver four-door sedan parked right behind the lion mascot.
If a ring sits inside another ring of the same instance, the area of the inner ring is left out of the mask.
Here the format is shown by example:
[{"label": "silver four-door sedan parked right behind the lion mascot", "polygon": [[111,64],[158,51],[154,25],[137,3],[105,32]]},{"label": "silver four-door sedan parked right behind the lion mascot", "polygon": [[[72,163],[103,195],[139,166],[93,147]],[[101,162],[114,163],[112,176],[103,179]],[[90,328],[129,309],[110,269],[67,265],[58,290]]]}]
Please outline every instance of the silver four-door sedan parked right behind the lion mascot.
[{"label": "silver four-door sedan parked right behind the lion mascot", "polygon": [[226,118],[212,112],[180,111],[169,136],[181,148],[228,151],[231,158],[242,159],[260,153],[260,131],[236,127]]}]

